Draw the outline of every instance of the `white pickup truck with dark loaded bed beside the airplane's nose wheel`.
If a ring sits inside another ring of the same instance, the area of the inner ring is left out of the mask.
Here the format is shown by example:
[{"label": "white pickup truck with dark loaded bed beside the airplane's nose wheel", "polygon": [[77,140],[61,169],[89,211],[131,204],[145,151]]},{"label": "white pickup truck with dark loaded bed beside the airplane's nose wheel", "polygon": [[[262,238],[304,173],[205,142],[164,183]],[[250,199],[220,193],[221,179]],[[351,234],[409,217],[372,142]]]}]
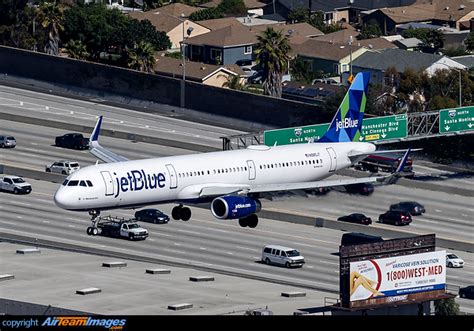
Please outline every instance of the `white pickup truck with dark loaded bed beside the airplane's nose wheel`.
[{"label": "white pickup truck with dark loaded bed beside the airplane's nose wheel", "polygon": [[148,230],[131,220],[116,221],[111,218],[99,222],[97,228],[100,235],[107,237],[122,237],[129,240],[145,240],[148,237]]}]

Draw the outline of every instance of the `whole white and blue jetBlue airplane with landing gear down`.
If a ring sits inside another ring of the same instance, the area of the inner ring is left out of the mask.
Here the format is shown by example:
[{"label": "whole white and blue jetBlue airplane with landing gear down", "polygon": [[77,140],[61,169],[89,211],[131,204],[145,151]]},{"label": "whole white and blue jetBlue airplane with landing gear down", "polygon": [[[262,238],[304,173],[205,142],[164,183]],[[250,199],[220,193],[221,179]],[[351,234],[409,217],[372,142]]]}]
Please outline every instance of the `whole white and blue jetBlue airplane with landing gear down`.
[{"label": "whole white and blue jetBlue airplane with landing gear down", "polygon": [[242,227],[255,228],[261,198],[279,191],[309,190],[355,183],[390,184],[403,171],[410,150],[390,175],[325,180],[376,151],[360,142],[367,101],[369,73],[358,73],[327,132],[317,141],[298,145],[253,145],[247,149],[202,154],[128,160],[99,144],[102,116],[90,137],[90,152],[105,163],[96,163],[69,175],[54,195],[57,206],[88,211],[89,235],[97,235],[100,211],[176,203],[171,216],[188,221],[186,205],[210,203],[217,219],[238,219]]}]

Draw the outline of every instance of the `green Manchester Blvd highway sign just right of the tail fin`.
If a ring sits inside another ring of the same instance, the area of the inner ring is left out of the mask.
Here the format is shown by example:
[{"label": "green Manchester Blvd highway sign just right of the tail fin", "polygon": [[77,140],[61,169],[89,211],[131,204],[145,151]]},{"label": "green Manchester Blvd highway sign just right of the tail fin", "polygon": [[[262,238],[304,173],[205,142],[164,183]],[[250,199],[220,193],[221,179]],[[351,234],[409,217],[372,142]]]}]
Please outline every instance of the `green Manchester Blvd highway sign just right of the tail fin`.
[{"label": "green Manchester Blvd highway sign just right of the tail fin", "polygon": [[364,119],[361,141],[400,139],[407,136],[407,115],[391,115]]}]

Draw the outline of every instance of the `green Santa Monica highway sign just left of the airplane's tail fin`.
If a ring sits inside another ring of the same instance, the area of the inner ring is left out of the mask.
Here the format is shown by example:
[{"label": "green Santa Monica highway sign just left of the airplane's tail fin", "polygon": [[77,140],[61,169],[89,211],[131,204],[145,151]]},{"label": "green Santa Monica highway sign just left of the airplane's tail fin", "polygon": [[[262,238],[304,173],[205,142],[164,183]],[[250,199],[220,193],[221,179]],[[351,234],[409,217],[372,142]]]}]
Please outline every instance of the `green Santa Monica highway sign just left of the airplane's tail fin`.
[{"label": "green Santa Monica highway sign just left of the airplane's tail fin", "polygon": [[280,146],[317,141],[327,131],[328,126],[329,123],[265,131],[263,143],[267,146],[273,146],[275,143]]}]

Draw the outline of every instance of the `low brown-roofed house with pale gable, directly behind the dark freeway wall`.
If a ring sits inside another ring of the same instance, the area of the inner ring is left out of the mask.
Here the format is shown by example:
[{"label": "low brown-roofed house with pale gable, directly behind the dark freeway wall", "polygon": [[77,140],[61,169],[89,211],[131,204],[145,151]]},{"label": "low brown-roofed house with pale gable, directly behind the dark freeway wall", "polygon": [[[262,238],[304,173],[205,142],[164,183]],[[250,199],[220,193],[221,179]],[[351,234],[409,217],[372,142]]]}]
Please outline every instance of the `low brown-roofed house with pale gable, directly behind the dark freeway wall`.
[{"label": "low brown-roofed house with pale gable, directly behind the dark freeway wall", "polygon": [[[183,60],[164,56],[163,53],[156,57],[154,71],[158,75],[183,78]],[[218,66],[207,63],[186,61],[186,80],[202,83],[204,85],[223,87],[229,76],[242,77],[245,73],[238,65]]]}]

